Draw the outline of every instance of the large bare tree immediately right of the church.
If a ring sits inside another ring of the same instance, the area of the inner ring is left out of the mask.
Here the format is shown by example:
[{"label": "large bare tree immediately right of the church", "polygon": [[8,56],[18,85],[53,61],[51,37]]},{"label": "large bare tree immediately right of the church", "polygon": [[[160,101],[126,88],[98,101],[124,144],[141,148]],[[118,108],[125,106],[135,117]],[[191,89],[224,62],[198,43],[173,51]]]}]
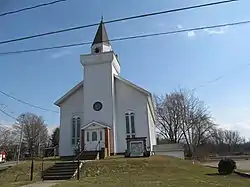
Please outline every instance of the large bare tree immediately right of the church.
[{"label": "large bare tree immediately right of the church", "polygon": [[159,133],[171,143],[184,141],[191,154],[211,137],[215,124],[192,92],[180,90],[156,97],[156,108]]}]

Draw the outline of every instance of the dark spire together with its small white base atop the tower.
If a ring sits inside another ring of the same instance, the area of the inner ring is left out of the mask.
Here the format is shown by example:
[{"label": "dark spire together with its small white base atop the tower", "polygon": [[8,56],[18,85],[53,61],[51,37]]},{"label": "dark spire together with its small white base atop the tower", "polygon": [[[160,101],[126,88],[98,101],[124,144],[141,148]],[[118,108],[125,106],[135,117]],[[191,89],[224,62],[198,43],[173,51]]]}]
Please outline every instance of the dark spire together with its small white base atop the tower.
[{"label": "dark spire together with its small white base atop the tower", "polygon": [[103,19],[101,20],[99,24],[99,27],[97,29],[91,48],[92,48],[93,54],[112,51]]}]

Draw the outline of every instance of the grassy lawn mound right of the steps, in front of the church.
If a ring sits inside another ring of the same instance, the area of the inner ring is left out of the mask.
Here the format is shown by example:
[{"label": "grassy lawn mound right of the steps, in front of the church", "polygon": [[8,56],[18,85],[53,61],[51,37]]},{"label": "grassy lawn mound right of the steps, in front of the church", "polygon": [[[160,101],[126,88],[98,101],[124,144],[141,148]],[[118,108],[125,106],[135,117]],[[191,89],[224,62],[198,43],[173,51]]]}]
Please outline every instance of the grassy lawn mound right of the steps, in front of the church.
[{"label": "grassy lawn mound right of the steps, in front of the church", "polygon": [[57,187],[249,187],[250,184],[250,179],[236,174],[208,176],[217,170],[163,156],[88,162],[81,171],[80,181],[73,179]]}]

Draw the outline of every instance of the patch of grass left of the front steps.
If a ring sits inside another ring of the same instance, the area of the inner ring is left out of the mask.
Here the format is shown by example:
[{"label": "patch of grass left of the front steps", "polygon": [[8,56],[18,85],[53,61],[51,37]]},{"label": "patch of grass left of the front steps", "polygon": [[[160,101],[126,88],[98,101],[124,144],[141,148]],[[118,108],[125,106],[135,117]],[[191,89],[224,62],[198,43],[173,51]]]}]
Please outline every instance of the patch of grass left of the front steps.
[{"label": "patch of grass left of the front steps", "polygon": [[[52,166],[54,161],[44,162],[44,169]],[[18,164],[6,170],[0,171],[0,186],[1,187],[16,187],[31,183],[30,181],[30,166],[31,161]],[[41,180],[42,162],[34,161],[33,182]]]}]

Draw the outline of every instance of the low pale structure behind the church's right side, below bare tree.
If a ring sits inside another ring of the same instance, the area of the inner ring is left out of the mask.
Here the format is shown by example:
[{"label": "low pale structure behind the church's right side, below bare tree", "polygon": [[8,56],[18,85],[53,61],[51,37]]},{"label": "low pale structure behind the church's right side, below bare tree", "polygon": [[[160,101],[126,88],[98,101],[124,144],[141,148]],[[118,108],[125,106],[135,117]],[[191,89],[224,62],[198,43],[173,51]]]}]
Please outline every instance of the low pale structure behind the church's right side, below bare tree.
[{"label": "low pale structure behind the church's right side, below bare tree", "polygon": [[184,159],[184,148],[181,144],[159,144],[154,145],[153,148],[155,155],[166,155],[176,158]]}]

